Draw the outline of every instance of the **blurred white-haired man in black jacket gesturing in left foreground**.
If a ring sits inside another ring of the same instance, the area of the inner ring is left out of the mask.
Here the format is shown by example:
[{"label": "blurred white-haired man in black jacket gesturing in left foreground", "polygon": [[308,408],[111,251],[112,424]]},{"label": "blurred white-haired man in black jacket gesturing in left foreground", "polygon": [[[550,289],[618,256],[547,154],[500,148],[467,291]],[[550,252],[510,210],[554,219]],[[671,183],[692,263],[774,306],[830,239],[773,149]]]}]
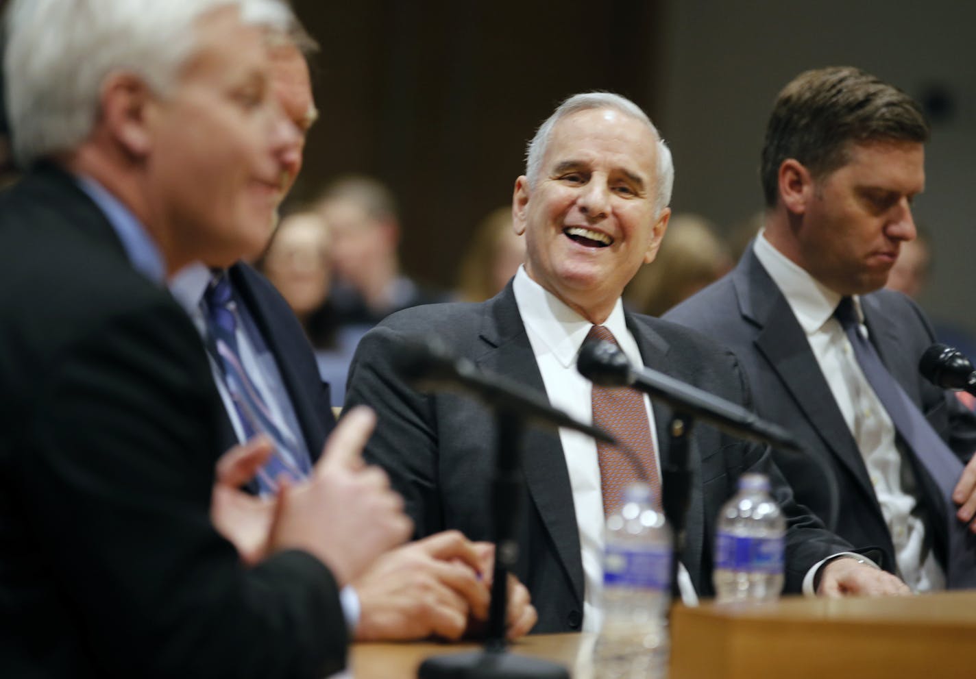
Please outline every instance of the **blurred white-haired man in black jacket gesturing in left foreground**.
[{"label": "blurred white-haired man in black jacket gesturing in left foreground", "polygon": [[190,261],[229,265],[264,246],[300,136],[272,96],[265,49],[290,11],[15,0],[7,20],[26,174],[0,197],[0,666],[339,669],[339,589],[410,526],[359,457],[373,416],[350,413],[305,480],[279,490],[259,527],[264,556],[245,565],[221,532],[237,542],[248,528],[231,513],[247,499],[235,486],[267,445],[221,458],[207,357],[164,287]]}]

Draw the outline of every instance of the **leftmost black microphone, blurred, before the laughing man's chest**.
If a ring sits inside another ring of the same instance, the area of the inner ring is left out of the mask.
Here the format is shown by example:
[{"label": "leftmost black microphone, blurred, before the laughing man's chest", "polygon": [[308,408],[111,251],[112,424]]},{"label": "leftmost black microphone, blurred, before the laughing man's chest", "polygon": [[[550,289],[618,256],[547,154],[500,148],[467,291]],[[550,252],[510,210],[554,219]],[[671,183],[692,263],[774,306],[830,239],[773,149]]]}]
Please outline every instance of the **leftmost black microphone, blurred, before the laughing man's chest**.
[{"label": "leftmost black microphone, blurred, before the laughing man's chest", "polygon": [[541,394],[514,379],[481,370],[470,359],[455,355],[436,337],[409,339],[394,358],[393,365],[404,379],[418,388],[459,389],[497,410],[514,412],[537,424],[566,427],[599,441],[616,444],[603,429],[553,408]]}]

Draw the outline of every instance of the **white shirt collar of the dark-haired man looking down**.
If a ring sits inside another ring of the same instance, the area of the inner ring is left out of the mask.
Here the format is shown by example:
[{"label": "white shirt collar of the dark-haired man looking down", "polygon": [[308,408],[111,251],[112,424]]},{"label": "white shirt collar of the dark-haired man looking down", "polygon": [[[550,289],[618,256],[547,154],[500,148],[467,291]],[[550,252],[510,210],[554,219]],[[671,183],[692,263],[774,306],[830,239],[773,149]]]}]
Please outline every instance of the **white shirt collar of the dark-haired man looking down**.
[{"label": "white shirt collar of the dark-haired man looking down", "polygon": [[[824,327],[824,324],[834,316],[834,309],[840,303],[840,294],[825,286],[811,276],[803,267],[790,260],[777,250],[766,239],[766,230],[762,229],[755,237],[752,246],[756,259],[766,269],[769,277],[787,299],[793,315],[803,332],[813,335]],[[854,296],[854,308],[858,319],[863,323],[864,314],[861,311],[861,300]]]}]

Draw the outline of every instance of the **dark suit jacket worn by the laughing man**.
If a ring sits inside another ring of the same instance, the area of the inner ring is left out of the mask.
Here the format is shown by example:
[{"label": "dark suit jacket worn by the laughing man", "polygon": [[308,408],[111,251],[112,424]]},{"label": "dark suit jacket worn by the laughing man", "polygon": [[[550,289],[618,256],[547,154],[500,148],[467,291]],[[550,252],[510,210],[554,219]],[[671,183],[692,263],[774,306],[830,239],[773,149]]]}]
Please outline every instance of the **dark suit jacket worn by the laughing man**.
[{"label": "dark suit jacket worn by the laughing man", "polygon": [[[730,353],[685,329],[647,316],[628,316],[630,331],[651,368],[745,403],[747,386]],[[498,297],[478,304],[434,304],[390,316],[362,339],[349,372],[346,407],[365,403],[379,412],[366,458],[386,468],[406,499],[417,535],[460,529],[470,539],[491,539],[487,503],[493,475],[495,426],[491,414],[467,397],[422,395],[395,373],[393,357],[405,338],[437,335],[460,356],[486,371],[544,391],[542,376],[515,304],[511,284]],[[670,411],[655,406],[659,432]],[[669,448],[661,437],[662,463]],[[771,473],[777,499],[790,517],[787,587],[798,591],[806,571],[850,545],[821,530],[818,521],[793,503],[760,447],[734,441],[699,425],[692,439],[693,470],[687,542],[681,559],[696,589],[712,594],[715,517],[746,470]],[[532,593],[539,611],[534,631],[578,630],[584,601],[583,564],[573,496],[562,446],[556,434],[529,428],[521,470],[527,492],[518,528],[515,575]]]}]

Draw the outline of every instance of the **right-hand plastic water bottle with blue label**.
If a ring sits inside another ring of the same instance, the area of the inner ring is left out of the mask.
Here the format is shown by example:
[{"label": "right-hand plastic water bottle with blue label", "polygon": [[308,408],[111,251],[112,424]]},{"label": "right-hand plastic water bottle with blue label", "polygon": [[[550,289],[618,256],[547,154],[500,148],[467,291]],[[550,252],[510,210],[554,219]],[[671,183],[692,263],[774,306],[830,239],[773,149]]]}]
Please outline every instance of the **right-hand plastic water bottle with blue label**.
[{"label": "right-hand plastic water bottle with blue label", "polygon": [[783,591],[786,520],[769,495],[769,478],[743,474],[722,506],[715,539],[716,600],[773,601]]}]

